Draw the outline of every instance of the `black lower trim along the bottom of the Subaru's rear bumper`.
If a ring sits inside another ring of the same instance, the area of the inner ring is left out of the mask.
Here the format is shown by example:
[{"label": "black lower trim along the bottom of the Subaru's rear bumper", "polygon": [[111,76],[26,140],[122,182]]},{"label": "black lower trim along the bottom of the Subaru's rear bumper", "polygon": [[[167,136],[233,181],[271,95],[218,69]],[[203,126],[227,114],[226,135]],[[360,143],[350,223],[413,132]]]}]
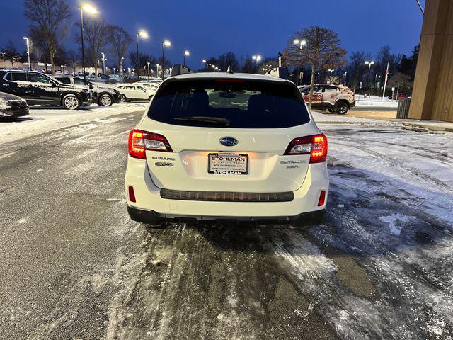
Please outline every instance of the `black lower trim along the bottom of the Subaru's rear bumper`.
[{"label": "black lower trim along the bottom of the Subaru's rear bumper", "polygon": [[266,224],[285,224],[293,225],[316,225],[322,222],[326,210],[316,210],[303,212],[296,216],[277,216],[277,217],[229,217],[229,216],[193,216],[193,215],[166,215],[159,214],[152,210],[142,210],[127,206],[127,212],[132,220],[146,223],[149,225],[159,225],[163,222],[186,222],[186,223],[214,223],[218,225],[256,223]]}]

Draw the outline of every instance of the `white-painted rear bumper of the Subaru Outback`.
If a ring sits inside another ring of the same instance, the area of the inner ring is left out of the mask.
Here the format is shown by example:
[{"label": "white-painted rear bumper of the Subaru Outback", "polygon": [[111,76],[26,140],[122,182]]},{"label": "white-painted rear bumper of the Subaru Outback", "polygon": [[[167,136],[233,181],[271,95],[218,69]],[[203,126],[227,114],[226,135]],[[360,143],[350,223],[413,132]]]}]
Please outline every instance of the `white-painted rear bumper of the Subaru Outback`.
[{"label": "white-painted rear bumper of the Subaru Outback", "polygon": [[[129,209],[140,210],[139,215],[148,215],[146,212],[152,212],[157,217],[165,219],[186,217],[192,220],[219,220],[219,218],[248,221],[263,218],[291,220],[304,213],[325,210],[326,203],[318,206],[318,201],[321,191],[324,190],[328,194],[328,184],[326,162],[310,164],[304,183],[297,191],[293,191],[294,198],[290,201],[225,202],[162,198],[160,188],[151,179],[147,162],[142,159],[128,157],[125,176]],[[132,202],[128,196],[129,186],[134,188],[136,202]],[[237,188],[231,188],[231,191],[235,190],[237,191]]]}]

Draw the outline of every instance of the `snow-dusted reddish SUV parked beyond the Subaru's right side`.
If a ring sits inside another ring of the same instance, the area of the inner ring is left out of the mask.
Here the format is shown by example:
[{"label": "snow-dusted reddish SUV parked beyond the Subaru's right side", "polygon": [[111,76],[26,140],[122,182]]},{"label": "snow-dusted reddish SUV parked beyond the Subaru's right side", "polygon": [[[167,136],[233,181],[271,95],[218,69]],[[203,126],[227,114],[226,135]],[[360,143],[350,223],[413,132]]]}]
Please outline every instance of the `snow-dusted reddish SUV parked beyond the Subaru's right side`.
[{"label": "snow-dusted reddish SUV parked beyond the Subaru's right side", "polygon": [[[300,89],[306,103],[309,102],[310,86]],[[354,92],[343,85],[316,84],[311,98],[311,108],[328,110],[344,115],[355,106]]]}]

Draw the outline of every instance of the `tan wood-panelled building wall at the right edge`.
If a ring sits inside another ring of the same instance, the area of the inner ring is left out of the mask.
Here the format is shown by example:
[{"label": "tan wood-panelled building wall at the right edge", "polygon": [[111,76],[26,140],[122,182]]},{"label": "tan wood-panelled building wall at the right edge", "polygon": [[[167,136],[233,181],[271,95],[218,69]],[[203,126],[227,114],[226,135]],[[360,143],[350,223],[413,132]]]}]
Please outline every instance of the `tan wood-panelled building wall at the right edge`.
[{"label": "tan wood-panelled building wall at the right edge", "polygon": [[453,0],[426,0],[409,118],[453,122]]}]

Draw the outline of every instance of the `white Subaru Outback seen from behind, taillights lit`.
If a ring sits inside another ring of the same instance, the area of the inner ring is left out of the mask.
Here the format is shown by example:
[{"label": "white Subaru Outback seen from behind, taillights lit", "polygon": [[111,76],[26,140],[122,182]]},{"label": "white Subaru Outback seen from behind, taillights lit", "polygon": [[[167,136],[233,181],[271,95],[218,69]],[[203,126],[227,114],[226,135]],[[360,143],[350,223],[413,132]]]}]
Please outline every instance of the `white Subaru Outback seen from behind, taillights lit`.
[{"label": "white Subaru Outback seen from behind, taillights lit", "polygon": [[291,81],[258,74],[166,79],[129,135],[132,220],[321,222],[327,139]]}]

